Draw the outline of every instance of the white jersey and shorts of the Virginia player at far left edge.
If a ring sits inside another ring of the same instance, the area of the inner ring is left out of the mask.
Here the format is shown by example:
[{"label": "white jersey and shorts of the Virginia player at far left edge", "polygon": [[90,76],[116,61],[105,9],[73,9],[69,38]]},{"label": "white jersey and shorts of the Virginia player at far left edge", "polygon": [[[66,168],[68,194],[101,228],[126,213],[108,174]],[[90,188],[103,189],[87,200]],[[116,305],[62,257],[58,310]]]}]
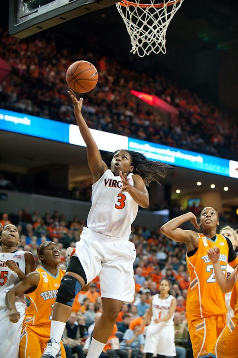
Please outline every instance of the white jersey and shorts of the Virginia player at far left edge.
[{"label": "white jersey and shorts of the Virginia player at far left edge", "polygon": [[25,251],[0,253],[0,357],[18,358],[20,334],[25,317],[26,304],[23,297],[16,297],[16,310],[20,313],[17,323],[9,321],[9,310],[6,307],[6,294],[18,282],[18,275],[10,270],[4,261],[14,260],[25,273]]}]

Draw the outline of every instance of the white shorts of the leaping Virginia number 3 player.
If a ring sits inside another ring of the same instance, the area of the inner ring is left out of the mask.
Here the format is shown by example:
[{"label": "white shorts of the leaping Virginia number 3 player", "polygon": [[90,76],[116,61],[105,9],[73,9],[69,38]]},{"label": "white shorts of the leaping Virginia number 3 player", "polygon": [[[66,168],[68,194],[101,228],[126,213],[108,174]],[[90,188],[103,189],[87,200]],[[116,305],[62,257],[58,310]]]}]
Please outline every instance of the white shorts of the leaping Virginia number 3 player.
[{"label": "white shorts of the leaping Virginia number 3 player", "polygon": [[105,236],[84,227],[73,256],[79,258],[87,283],[99,275],[101,297],[133,301],[136,249],[127,238]]}]

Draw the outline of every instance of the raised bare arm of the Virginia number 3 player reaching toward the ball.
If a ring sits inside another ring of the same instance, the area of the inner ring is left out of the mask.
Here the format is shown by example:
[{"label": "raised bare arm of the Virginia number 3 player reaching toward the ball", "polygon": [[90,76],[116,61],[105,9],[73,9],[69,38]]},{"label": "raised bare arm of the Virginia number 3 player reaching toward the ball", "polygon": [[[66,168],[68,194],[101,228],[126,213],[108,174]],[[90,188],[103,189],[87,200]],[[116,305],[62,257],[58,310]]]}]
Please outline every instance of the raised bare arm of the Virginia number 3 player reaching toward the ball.
[{"label": "raised bare arm of the Virginia number 3 player reaching toward the ball", "polygon": [[91,132],[83,118],[82,115],[82,106],[83,106],[83,98],[77,100],[72,89],[68,91],[69,96],[72,99],[74,106],[74,115],[76,117],[76,121],[80,130],[80,133],[83,137],[84,142],[87,145],[87,156],[88,156],[88,166],[93,175],[93,182],[95,183],[99,178],[101,178],[102,174],[108,169],[106,164],[102,161],[101,154],[97,147],[96,142],[94,141]]}]

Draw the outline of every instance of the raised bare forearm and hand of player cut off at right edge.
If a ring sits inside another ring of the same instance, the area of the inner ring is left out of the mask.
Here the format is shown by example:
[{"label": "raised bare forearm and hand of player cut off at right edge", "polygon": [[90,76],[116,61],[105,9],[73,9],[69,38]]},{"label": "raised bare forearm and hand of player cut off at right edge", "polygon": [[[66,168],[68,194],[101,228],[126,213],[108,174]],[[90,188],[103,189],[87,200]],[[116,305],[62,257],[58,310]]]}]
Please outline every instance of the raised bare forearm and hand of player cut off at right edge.
[{"label": "raised bare forearm and hand of player cut off at right edge", "polygon": [[220,257],[220,248],[217,246],[214,246],[207,251],[208,257],[210,261],[212,262],[214,274],[216,277],[216,281],[218,283],[218,286],[220,287],[221,291],[223,293],[230,292],[233,289],[233,286],[235,284],[235,277],[237,275],[237,268],[230,274],[230,276],[227,277],[224,275],[224,272],[222,271],[219,257]]}]

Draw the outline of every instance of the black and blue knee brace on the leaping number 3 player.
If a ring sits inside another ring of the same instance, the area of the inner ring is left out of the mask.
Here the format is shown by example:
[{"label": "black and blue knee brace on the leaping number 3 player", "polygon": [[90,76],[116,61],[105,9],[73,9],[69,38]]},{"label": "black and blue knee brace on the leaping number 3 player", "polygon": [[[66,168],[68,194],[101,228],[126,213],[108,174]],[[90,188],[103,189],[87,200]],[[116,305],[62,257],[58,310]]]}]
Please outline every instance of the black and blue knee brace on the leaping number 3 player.
[{"label": "black and blue knee brace on the leaping number 3 player", "polygon": [[81,291],[81,284],[72,276],[64,276],[60,282],[56,302],[67,306],[73,306],[74,297]]}]

